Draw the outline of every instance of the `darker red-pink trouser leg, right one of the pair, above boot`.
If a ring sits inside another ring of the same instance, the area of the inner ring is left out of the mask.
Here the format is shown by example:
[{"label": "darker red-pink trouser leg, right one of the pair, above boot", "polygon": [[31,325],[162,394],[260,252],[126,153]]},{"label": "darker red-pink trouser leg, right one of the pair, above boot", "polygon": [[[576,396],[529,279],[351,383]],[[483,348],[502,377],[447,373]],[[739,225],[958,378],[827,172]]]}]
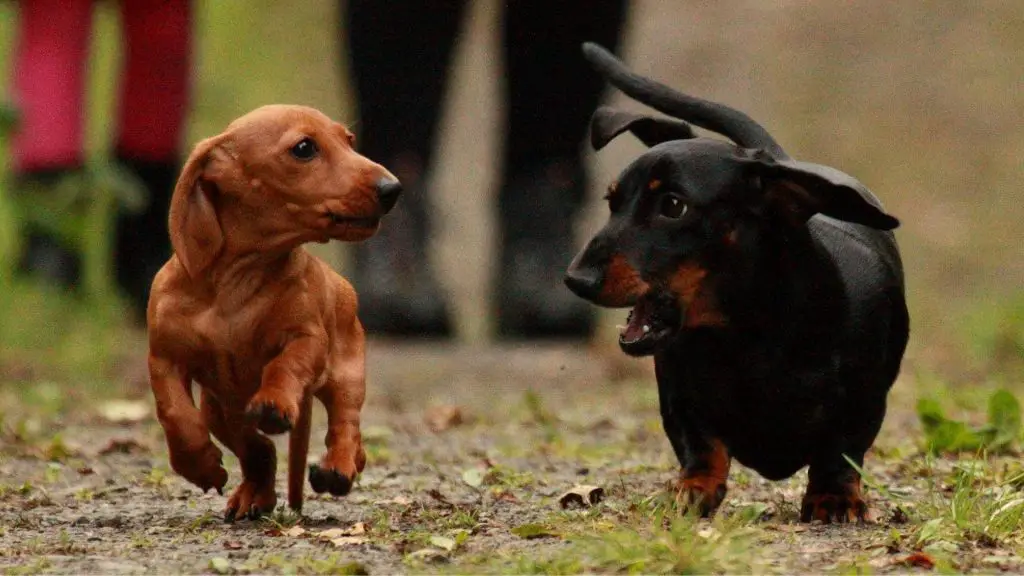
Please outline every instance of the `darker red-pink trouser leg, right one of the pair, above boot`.
[{"label": "darker red-pink trouser leg, right one of the pair, above boot", "polygon": [[191,27],[188,0],[122,0],[125,65],[117,152],[178,161],[187,112]]}]

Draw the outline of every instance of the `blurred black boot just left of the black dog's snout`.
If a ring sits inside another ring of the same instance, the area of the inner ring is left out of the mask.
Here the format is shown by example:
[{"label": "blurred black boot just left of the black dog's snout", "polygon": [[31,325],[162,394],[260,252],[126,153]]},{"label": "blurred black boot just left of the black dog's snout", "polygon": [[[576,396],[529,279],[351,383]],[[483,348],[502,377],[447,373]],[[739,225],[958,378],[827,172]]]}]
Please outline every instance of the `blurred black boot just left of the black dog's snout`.
[{"label": "blurred black boot just left of the black dog's snout", "polygon": [[501,270],[495,285],[502,338],[587,338],[594,313],[565,288],[572,221],[586,190],[569,161],[513,175],[500,198]]}]

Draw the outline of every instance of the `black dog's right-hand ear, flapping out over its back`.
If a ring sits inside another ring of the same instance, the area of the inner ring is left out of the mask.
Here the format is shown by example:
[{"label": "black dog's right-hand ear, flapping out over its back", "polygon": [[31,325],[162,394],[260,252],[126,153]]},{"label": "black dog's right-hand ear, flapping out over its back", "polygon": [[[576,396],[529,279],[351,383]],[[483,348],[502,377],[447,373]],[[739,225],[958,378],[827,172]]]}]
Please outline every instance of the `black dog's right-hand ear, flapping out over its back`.
[{"label": "black dog's right-hand ear, flapping out over its back", "polygon": [[887,214],[879,199],[857,179],[828,166],[762,157],[757,162],[765,197],[788,218],[807,221],[815,213],[878,230],[893,230],[899,220]]}]

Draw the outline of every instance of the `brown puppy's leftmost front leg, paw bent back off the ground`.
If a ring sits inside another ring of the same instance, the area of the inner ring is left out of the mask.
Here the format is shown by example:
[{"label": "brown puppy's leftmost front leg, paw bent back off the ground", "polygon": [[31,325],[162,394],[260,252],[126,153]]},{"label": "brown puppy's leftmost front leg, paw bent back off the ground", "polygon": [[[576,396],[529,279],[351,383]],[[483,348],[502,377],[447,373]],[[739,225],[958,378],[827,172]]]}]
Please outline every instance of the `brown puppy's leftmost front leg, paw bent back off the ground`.
[{"label": "brown puppy's leftmost front leg, paw bent back off the ground", "polygon": [[167,437],[171,467],[204,492],[211,488],[222,492],[227,484],[222,454],[196,408],[185,369],[150,355],[150,383],[157,400],[157,418]]}]

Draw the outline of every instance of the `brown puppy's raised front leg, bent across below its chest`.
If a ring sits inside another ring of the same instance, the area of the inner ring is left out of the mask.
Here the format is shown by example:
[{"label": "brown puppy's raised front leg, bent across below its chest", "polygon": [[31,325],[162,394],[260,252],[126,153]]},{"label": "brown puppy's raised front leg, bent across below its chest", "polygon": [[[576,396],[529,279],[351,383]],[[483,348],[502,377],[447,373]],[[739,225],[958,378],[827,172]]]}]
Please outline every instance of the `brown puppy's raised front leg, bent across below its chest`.
[{"label": "brown puppy's raised front leg, bent across below its chest", "polygon": [[306,386],[319,379],[327,357],[324,335],[293,339],[263,367],[259,389],[246,407],[246,417],[264,434],[284,434],[299,418]]}]

